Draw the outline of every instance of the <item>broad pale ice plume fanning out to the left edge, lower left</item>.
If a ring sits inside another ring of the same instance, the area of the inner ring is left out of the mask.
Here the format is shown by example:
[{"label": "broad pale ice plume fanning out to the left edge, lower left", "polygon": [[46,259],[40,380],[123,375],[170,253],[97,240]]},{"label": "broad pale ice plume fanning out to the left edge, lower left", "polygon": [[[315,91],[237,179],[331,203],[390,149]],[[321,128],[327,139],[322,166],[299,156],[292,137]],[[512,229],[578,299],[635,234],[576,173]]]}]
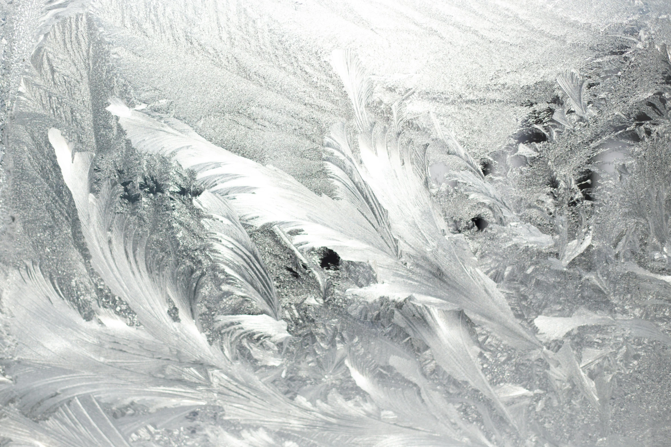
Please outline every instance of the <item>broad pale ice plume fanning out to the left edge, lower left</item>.
[{"label": "broad pale ice plume fanning out to the left edge, lower left", "polygon": [[168,346],[125,324],[83,320],[33,265],[13,275],[3,314],[11,314],[3,320],[19,342],[13,359],[2,361],[14,380],[0,387],[0,403],[17,399],[32,416],[85,394],[107,401],[133,395],[150,406],[156,399],[205,403],[199,391],[160,378],[167,365],[180,364]]}]

